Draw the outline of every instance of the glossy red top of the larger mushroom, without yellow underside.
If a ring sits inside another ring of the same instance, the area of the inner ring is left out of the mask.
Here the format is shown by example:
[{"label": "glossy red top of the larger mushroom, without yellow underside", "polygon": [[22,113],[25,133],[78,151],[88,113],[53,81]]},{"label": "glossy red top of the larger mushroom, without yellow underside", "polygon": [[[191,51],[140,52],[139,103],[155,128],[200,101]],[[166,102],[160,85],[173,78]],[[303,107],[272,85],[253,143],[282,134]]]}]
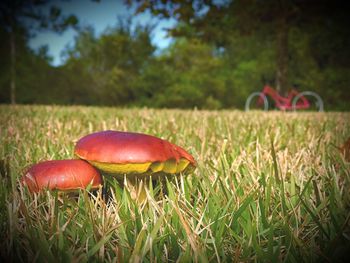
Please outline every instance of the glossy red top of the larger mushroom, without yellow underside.
[{"label": "glossy red top of the larger mushroom, without yellow underside", "polygon": [[160,138],[133,132],[102,131],[81,138],[75,154],[88,161],[103,163],[165,162],[181,158],[193,166],[195,160],[181,147]]}]

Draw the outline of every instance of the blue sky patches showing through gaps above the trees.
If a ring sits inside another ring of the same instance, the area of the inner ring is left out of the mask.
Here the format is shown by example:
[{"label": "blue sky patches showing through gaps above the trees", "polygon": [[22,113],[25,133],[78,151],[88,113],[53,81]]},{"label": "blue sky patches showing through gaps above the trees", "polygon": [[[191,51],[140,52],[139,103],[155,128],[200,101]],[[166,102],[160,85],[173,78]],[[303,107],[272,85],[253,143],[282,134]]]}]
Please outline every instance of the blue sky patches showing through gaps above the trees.
[{"label": "blue sky patches showing through gaps above the trees", "polygon": [[[127,16],[133,14],[133,9],[123,3],[123,0],[101,0],[99,3],[91,0],[71,0],[71,1],[51,1],[51,5],[61,8],[62,14],[74,14],[79,19],[79,25],[84,27],[92,25],[96,35],[100,35],[107,27],[116,25],[118,16]],[[171,38],[166,37],[165,28],[175,25],[174,20],[160,20],[152,17],[149,13],[134,16],[133,23],[147,24],[157,23],[153,31],[152,42],[161,50],[169,46]],[[29,41],[29,46],[37,50],[41,46],[47,45],[49,55],[52,56],[52,65],[59,66],[64,63],[62,51],[68,45],[74,44],[74,36],[77,32],[74,29],[68,29],[62,34],[52,31],[36,32],[35,36]]]}]

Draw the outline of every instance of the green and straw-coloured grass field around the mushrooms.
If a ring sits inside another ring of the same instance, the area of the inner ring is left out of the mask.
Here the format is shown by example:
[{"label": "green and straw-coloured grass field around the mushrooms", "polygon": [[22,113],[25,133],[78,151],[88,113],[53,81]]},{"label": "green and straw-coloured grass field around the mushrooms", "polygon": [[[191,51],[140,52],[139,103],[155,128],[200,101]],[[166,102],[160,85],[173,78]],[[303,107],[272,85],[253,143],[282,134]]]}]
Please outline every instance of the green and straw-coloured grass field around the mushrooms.
[{"label": "green and straw-coloured grass field around the mushrooms", "polygon": [[[38,262],[341,262],[350,249],[349,113],[0,106],[2,257]],[[18,179],[105,129],[187,149],[197,169],[139,205],[101,191],[31,195]],[[166,193],[164,193],[166,192]]]}]

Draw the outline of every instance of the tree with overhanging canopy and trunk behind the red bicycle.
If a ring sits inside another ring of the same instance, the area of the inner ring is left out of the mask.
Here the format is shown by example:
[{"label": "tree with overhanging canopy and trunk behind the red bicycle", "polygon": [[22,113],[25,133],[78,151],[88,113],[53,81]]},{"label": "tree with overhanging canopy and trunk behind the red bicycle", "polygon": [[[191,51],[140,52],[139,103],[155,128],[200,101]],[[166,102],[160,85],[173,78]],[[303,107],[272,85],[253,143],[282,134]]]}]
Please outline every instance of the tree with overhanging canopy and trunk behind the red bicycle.
[{"label": "tree with overhanging canopy and trunk behind the red bicycle", "polygon": [[[135,0],[128,3],[135,4],[137,12],[149,10],[160,17],[177,19],[179,24],[170,30],[172,36],[197,37],[217,48],[227,48],[235,32],[241,36],[270,36],[276,50],[275,84],[282,93],[290,86],[290,29],[312,26],[322,30],[318,26],[321,20],[326,18],[334,23],[339,15],[347,14],[346,3],[340,0]],[[348,24],[347,20],[349,18],[344,19],[343,25]]]}]

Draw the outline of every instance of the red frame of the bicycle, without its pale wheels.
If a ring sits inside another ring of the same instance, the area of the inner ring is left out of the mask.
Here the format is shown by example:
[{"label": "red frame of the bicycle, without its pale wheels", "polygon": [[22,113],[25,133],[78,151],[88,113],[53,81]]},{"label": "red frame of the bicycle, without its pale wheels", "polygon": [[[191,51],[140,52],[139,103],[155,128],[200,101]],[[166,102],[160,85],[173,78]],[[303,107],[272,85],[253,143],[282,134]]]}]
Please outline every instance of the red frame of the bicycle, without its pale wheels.
[{"label": "red frame of the bicycle, without its pale wheels", "polygon": [[[295,89],[292,89],[288,92],[287,97],[283,97],[278,92],[270,87],[269,85],[265,85],[262,94],[265,96],[270,96],[272,100],[275,102],[275,105],[280,110],[292,110],[293,109],[293,98],[300,93],[296,91]],[[258,105],[262,105],[263,98],[259,97],[258,99]],[[295,105],[295,109],[308,109],[310,107],[310,102],[305,98],[304,96],[300,97],[300,101]]]}]

